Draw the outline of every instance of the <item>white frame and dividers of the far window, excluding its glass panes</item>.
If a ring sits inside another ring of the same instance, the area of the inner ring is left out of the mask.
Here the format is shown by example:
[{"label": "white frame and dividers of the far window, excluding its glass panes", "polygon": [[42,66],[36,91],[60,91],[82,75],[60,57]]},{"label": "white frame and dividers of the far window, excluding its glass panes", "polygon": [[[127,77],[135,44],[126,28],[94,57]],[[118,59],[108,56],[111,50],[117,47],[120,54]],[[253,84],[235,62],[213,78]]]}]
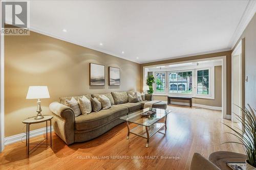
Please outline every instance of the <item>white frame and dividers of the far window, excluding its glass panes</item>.
[{"label": "white frame and dividers of the far window, excluding its glass panes", "polygon": [[[197,94],[197,71],[198,70],[209,70],[209,94]],[[192,93],[169,93],[169,73],[172,72],[184,72],[184,71],[192,71]],[[156,92],[156,85],[153,86],[154,94],[160,95],[176,95],[176,96],[191,96],[193,98],[203,98],[203,99],[215,99],[215,66],[204,67],[198,69],[178,69],[172,71],[155,71],[154,75],[156,78],[157,73],[165,74],[165,89],[164,92]],[[155,83],[154,83],[155,84]]]}]

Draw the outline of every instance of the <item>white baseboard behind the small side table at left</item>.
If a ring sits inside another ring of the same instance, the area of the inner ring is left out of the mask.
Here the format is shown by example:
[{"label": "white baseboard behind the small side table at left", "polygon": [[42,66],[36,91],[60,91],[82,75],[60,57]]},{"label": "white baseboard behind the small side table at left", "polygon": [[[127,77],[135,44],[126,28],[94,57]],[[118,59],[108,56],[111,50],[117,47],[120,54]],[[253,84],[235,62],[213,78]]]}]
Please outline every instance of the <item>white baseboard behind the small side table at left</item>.
[{"label": "white baseboard behind the small side table at left", "polygon": [[[47,128],[47,132],[48,133],[50,132],[50,126],[48,126],[48,128]],[[52,126],[52,132],[53,132],[53,126]],[[30,131],[29,138],[39,136],[39,135],[42,135],[42,134],[45,134],[45,133],[46,133],[46,127],[36,129],[36,130]],[[21,141],[21,140],[26,140],[26,133],[20,133],[20,134],[17,134],[17,135],[5,137],[5,145],[15,143],[15,142]]]}]

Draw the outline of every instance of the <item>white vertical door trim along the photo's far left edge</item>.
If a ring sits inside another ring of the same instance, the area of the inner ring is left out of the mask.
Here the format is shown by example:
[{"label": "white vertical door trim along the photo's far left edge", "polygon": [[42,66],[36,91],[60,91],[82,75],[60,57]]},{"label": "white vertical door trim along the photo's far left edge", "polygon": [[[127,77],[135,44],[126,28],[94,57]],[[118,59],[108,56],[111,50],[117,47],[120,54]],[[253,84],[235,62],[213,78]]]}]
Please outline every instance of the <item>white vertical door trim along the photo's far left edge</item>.
[{"label": "white vertical door trim along the photo's far left edge", "polygon": [[0,152],[5,147],[5,61],[4,61],[4,35],[1,35],[1,99],[0,99]]}]

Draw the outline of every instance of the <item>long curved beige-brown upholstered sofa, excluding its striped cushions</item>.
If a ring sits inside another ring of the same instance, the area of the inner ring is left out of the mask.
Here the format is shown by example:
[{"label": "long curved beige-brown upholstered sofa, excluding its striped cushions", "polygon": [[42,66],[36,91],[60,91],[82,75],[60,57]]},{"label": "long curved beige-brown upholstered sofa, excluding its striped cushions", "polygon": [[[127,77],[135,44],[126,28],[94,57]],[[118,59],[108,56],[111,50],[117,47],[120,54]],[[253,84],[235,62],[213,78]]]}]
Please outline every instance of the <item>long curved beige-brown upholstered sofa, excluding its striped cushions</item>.
[{"label": "long curved beige-brown upholstered sofa, excluding its striped cushions", "polygon": [[[74,142],[87,141],[123,123],[124,121],[120,119],[121,116],[143,109],[144,103],[152,100],[152,94],[145,94],[144,101],[137,103],[125,101],[118,104],[120,102],[112,95],[111,93],[106,94],[111,100],[111,108],[77,117],[75,117],[74,111],[70,107],[64,105],[65,99],[71,99],[72,97],[60,98],[59,102],[51,103],[49,107],[54,116],[54,132],[68,145]],[[97,98],[98,94],[86,94],[85,96],[88,99],[91,96]],[[74,96],[76,100],[78,97],[82,96]],[[166,106],[167,104],[164,102],[153,105],[155,108],[162,109],[166,109]]]}]

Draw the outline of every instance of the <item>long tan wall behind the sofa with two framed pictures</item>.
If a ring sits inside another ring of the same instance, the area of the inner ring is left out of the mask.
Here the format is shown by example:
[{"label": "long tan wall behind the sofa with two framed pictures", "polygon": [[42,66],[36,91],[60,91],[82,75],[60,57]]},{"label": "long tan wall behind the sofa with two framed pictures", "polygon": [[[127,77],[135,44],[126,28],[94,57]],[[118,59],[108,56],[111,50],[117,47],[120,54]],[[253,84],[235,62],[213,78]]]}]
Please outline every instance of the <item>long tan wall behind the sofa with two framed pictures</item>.
[{"label": "long tan wall behind the sofa with two framed pictures", "polygon": [[[105,86],[89,86],[89,63],[105,65]],[[108,67],[119,67],[121,85],[108,85]],[[140,65],[86,47],[31,32],[5,36],[5,136],[26,131],[22,120],[36,114],[36,100],[26,100],[29,86],[48,86],[42,113],[60,96],[140,90]],[[32,129],[45,125],[32,125]]]}]

